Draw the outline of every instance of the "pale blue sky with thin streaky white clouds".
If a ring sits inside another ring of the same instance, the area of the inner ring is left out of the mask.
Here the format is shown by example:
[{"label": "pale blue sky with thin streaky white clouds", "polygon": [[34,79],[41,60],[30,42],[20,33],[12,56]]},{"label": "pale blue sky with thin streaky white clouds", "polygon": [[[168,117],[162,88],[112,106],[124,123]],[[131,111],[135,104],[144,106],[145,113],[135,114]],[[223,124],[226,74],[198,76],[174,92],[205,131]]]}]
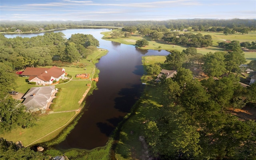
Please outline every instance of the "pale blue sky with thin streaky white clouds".
[{"label": "pale blue sky with thin streaky white clouds", "polygon": [[256,19],[256,0],[0,0],[0,20]]}]

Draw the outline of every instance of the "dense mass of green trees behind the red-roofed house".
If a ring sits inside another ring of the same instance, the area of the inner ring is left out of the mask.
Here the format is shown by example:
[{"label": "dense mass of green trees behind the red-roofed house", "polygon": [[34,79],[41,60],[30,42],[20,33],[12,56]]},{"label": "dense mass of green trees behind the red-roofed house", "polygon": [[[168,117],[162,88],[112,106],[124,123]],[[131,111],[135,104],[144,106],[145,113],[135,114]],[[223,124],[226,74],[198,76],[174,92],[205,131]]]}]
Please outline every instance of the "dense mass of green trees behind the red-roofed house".
[{"label": "dense mass of green trees behind the red-roofed house", "polygon": [[8,63],[14,70],[52,65],[53,60],[79,62],[99,46],[99,41],[92,35],[77,33],[69,39],[64,36],[62,32],[44,33],[31,38],[8,39],[0,35],[0,62]]}]

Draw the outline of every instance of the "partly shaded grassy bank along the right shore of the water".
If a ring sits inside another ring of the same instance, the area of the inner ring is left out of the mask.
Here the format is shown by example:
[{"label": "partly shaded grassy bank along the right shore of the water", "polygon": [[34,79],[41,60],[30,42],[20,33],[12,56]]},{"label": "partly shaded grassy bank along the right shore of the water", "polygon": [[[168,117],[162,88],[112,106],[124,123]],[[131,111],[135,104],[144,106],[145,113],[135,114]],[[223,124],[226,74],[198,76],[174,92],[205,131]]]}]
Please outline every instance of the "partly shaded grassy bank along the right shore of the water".
[{"label": "partly shaded grassy bank along the right shore of the water", "polygon": [[[143,57],[142,63],[144,65],[154,64],[155,62],[163,63],[164,60],[164,56],[146,56]],[[144,76],[142,81],[148,82],[149,79],[152,79],[152,77]],[[120,137],[115,148],[116,159],[130,160],[146,158],[146,153],[139,137],[144,135],[144,123],[152,120],[152,117],[156,117],[162,107],[156,98],[158,97],[156,89],[157,86],[154,85],[145,86],[144,94],[138,103],[136,103],[134,111],[130,113],[129,119],[122,125]],[[132,134],[131,131],[133,131]]]}]

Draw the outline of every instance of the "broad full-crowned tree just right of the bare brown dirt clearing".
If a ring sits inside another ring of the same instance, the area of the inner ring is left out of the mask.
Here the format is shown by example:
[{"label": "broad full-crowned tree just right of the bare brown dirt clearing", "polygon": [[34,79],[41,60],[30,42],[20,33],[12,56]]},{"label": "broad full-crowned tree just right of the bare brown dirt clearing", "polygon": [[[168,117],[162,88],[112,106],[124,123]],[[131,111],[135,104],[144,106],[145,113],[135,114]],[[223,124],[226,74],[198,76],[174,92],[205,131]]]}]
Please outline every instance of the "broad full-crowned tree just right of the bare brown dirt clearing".
[{"label": "broad full-crowned tree just right of the bare brown dirt clearing", "polygon": [[207,53],[204,55],[202,69],[210,76],[221,76],[226,71],[224,62],[224,52]]}]

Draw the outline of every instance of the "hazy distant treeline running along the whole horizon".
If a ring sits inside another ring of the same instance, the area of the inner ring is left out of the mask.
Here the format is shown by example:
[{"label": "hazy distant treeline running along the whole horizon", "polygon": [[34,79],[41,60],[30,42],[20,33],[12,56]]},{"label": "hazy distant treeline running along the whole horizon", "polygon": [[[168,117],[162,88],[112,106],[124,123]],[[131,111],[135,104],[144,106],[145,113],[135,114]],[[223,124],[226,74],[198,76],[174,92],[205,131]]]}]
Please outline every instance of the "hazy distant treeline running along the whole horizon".
[{"label": "hazy distant treeline running along the whole horizon", "polygon": [[0,30],[2,32],[14,32],[20,29],[22,32],[28,31],[42,31],[50,29],[60,29],[65,27],[86,26],[152,26],[164,25],[168,29],[180,28],[199,28],[203,27],[205,31],[211,27],[248,27],[250,30],[256,30],[256,20],[215,20],[215,19],[180,19],[180,20],[165,20],[165,21],[1,21]]}]

